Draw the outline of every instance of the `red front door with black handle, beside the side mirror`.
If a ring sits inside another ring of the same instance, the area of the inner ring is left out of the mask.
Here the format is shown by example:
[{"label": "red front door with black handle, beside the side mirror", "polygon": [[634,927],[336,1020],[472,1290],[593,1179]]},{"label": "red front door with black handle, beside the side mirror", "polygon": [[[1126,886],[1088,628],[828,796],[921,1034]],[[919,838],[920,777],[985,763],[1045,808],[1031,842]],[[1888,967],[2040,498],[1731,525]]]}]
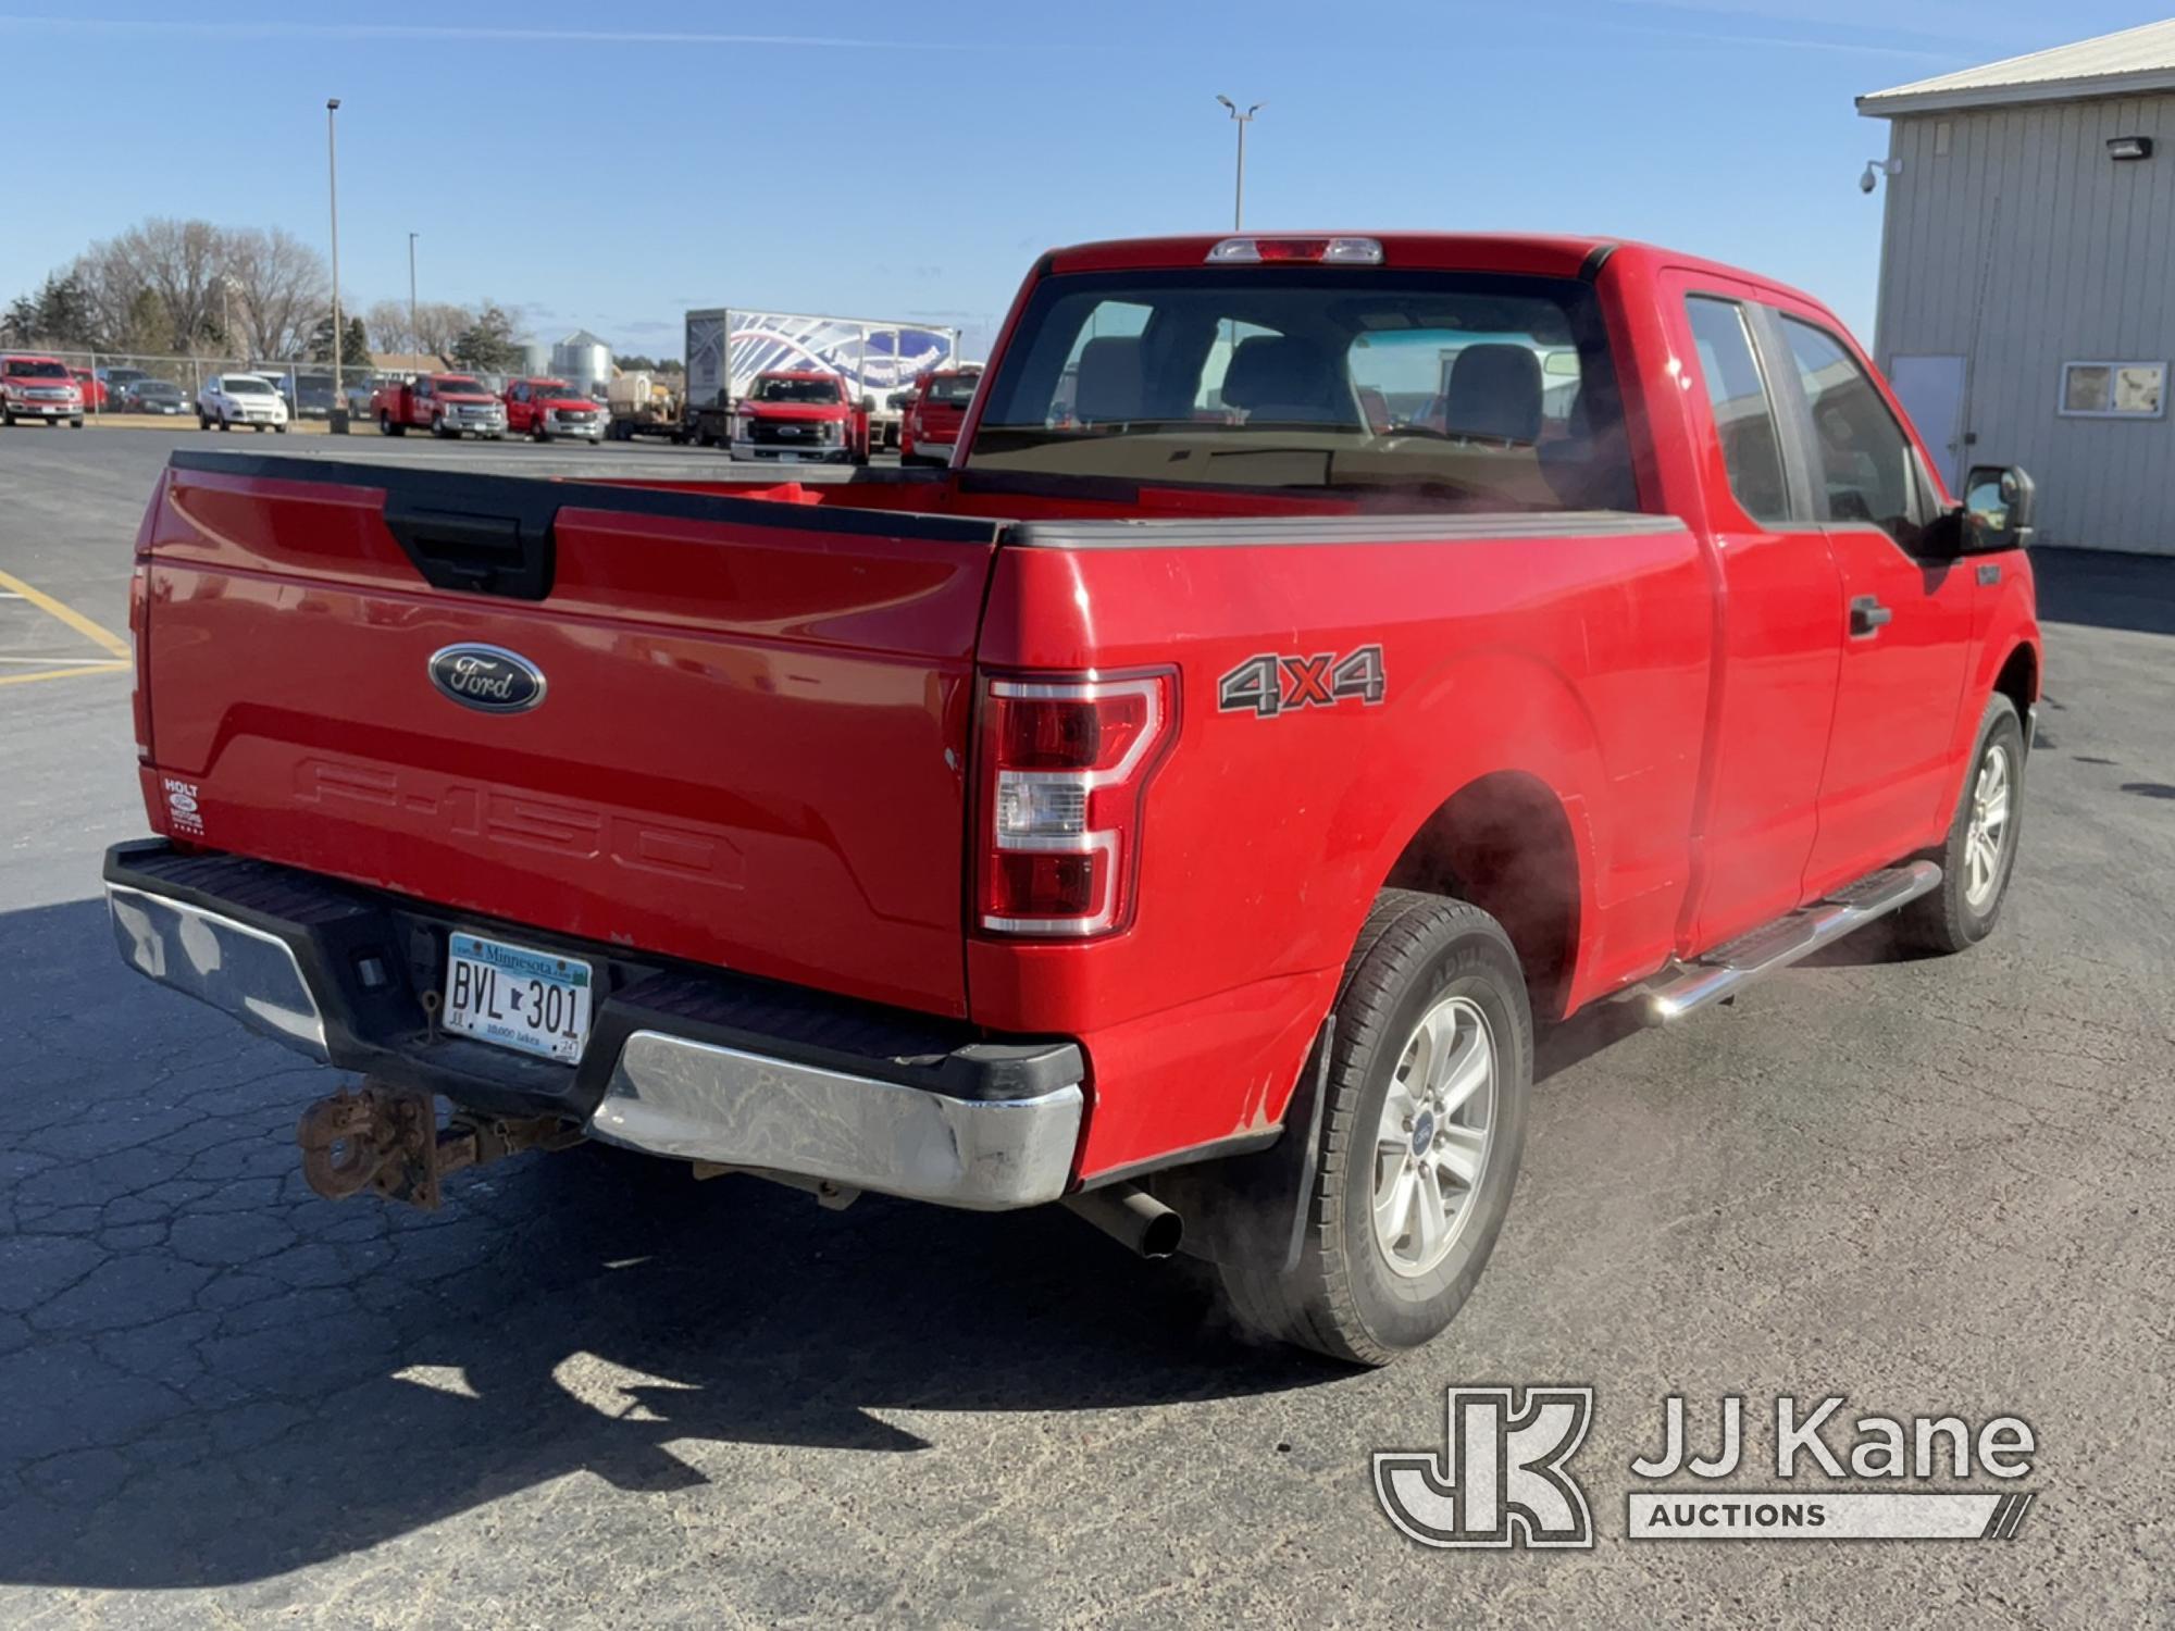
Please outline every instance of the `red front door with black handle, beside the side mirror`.
[{"label": "red front door with black handle, beside the side mirror", "polygon": [[1820,896],[1940,835],[1977,592],[1971,561],[1921,550],[1944,494],[1855,348],[1801,311],[1775,311],[1768,335],[1842,572],[1836,724],[1805,870]]}]

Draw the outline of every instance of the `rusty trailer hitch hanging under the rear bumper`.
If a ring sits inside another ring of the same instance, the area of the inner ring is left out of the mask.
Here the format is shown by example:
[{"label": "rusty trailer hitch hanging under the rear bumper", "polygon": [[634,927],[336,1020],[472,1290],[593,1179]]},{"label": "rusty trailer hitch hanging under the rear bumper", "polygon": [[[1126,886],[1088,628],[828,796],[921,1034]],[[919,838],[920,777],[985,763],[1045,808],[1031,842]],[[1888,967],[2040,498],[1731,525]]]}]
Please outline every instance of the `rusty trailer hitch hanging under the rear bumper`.
[{"label": "rusty trailer hitch hanging under the rear bumper", "polygon": [[437,1211],[446,1176],[522,1150],[563,1150],[583,1142],[572,1122],[552,1116],[472,1116],[455,1111],[437,1124],[437,1100],[407,1087],[363,1081],[320,1098],[294,1131],[302,1176],[326,1200],[365,1190]]}]

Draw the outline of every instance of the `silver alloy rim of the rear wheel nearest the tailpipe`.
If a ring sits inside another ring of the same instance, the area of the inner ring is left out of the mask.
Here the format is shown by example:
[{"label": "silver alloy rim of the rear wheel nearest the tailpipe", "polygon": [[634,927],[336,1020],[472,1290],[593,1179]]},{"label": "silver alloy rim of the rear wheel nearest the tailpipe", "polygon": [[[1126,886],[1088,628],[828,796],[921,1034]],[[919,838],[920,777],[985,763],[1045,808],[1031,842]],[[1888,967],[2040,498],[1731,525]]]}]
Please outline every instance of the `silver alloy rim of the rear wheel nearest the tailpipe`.
[{"label": "silver alloy rim of the rear wheel nearest the tailpipe", "polygon": [[1494,1113],[1494,1031],[1472,998],[1444,996],[1405,1042],[1375,1129],[1375,1244],[1394,1274],[1438,1268],[1479,1211]]}]

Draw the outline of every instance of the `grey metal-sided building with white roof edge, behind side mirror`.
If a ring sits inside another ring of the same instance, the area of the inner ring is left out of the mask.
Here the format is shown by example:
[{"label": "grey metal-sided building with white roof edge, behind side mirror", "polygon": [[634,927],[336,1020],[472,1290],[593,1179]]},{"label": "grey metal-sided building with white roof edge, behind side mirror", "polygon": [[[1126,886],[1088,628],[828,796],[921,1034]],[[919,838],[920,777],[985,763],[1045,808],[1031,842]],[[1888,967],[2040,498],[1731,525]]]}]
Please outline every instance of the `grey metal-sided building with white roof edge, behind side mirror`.
[{"label": "grey metal-sided building with white roof edge, behind side mirror", "polygon": [[2044,544],[2175,555],[2175,22],[1857,98],[1888,120],[1875,350]]}]

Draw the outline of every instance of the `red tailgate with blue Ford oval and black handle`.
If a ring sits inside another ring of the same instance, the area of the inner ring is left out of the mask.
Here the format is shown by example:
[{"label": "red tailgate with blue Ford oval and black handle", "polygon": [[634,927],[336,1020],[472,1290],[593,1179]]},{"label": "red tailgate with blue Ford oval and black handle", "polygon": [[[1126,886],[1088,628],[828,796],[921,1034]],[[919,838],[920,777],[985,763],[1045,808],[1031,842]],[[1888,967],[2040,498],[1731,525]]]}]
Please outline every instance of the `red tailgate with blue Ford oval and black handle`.
[{"label": "red tailgate with blue Ford oval and black handle", "polygon": [[[996,531],[178,452],[148,531],[152,824],[485,918],[964,1013],[972,652]],[[461,657],[435,663],[450,646],[522,672],[498,685],[485,668],[494,683],[461,700]]]}]

